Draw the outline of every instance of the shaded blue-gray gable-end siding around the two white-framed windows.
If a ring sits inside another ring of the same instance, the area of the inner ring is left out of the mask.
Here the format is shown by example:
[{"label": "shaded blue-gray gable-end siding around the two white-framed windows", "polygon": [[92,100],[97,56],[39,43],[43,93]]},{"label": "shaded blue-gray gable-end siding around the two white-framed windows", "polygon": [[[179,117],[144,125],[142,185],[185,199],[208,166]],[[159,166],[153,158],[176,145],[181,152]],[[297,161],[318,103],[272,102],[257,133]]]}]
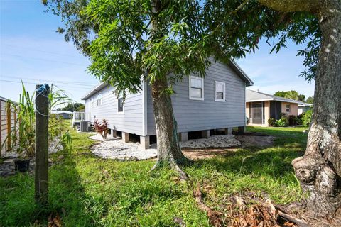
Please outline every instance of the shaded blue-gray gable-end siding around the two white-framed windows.
[{"label": "shaded blue-gray gable-end siding around the two white-framed windows", "polygon": [[[204,79],[204,100],[189,99],[189,79],[174,85],[172,96],[178,132],[245,126],[245,82],[229,66],[210,59]],[[215,101],[215,81],[225,82],[224,102]],[[151,89],[147,88],[148,135],[155,135]]]}]

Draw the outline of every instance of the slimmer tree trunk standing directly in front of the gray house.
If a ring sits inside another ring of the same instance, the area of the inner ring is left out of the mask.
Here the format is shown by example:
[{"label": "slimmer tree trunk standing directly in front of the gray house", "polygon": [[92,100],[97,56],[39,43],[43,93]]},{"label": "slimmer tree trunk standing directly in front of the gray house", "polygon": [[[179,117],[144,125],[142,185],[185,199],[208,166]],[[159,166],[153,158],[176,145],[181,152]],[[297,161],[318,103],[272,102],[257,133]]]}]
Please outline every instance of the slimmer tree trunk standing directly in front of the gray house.
[{"label": "slimmer tree trunk standing directly in front of the gray house", "polygon": [[[152,40],[158,42],[158,39],[163,37],[158,23],[158,13],[162,10],[162,3],[160,0],[152,0],[151,6],[153,11],[151,35]],[[151,84],[156,138],[158,140],[158,160],[153,169],[159,165],[171,165],[180,173],[182,179],[188,179],[188,176],[179,167],[179,164],[185,164],[188,159],[180,149],[171,96],[166,93],[166,89],[168,89],[166,75],[158,75]]]}]

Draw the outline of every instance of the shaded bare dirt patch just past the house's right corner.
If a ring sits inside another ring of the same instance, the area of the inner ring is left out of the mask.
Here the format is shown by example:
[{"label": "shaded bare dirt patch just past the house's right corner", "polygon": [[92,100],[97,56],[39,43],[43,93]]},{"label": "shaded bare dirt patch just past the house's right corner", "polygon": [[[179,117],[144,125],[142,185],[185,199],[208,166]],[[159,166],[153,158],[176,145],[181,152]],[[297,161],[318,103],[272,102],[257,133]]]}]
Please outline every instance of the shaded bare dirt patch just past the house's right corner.
[{"label": "shaded bare dirt patch just past the house's right corner", "polygon": [[268,148],[274,145],[274,136],[269,135],[236,135],[235,137],[242,143],[242,147]]}]

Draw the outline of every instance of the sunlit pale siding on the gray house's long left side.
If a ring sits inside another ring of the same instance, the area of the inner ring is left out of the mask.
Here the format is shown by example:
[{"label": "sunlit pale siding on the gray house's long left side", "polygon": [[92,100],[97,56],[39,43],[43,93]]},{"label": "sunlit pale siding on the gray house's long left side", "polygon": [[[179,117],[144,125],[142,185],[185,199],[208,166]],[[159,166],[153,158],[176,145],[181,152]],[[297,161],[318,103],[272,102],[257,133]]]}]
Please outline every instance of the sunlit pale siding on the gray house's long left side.
[{"label": "sunlit pale siding on the gray house's long left side", "polygon": [[[102,92],[102,105],[97,106],[96,96]],[[90,121],[107,119],[109,128],[143,135],[143,96],[139,94],[127,94],[124,102],[123,114],[117,112],[117,96],[113,93],[114,87],[104,87],[96,94],[85,100],[85,112],[90,113]],[[92,107],[92,100],[95,101]]]}]

